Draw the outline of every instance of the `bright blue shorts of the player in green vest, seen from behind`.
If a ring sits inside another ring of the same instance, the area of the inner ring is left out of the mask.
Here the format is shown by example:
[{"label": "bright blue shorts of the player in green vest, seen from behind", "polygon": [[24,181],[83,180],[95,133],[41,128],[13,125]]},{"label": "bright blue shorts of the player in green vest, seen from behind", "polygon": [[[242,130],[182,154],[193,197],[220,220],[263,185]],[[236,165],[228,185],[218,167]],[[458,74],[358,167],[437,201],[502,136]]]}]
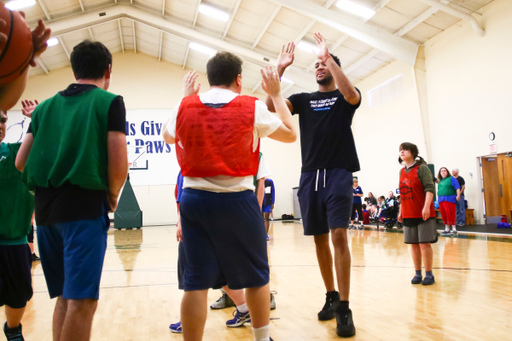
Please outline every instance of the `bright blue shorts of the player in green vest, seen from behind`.
[{"label": "bright blue shorts of the player in green vest, seen from behind", "polygon": [[99,298],[109,227],[107,213],[95,219],[37,227],[41,264],[51,298]]}]

